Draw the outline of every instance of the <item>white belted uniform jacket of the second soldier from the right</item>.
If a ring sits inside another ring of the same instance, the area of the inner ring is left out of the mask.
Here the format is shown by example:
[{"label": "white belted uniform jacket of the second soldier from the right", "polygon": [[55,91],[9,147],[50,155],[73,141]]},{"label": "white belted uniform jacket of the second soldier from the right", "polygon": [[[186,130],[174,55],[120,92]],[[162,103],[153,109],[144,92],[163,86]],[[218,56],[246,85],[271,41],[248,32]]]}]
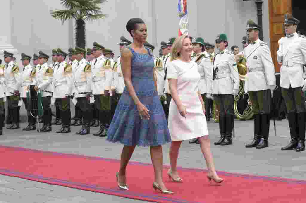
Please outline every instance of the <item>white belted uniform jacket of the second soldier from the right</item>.
[{"label": "white belted uniform jacket of the second soldier from the right", "polygon": [[244,48],[247,60],[247,75],[244,91],[260,91],[275,85],[274,64],[267,43],[257,39]]}]

